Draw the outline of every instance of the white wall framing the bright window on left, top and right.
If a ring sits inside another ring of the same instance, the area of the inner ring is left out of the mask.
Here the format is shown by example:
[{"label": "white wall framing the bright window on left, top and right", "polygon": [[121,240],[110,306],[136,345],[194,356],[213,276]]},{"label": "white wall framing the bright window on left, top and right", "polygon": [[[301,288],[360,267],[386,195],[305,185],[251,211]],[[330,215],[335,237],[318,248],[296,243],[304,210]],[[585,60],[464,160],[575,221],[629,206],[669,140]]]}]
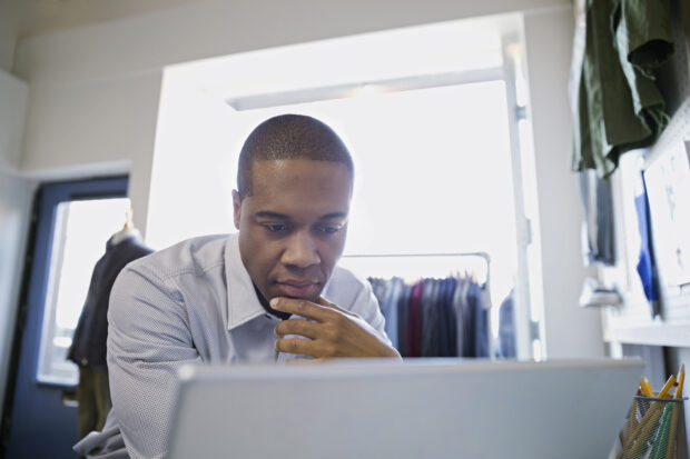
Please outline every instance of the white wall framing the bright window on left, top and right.
[{"label": "white wall framing the bright window on left, top and right", "polygon": [[[570,0],[253,2],[209,0],[19,42],[30,83],[20,170],[37,178],[131,172],[146,231],[165,66],[355,33],[528,10],[548,356],[603,352],[599,317],[578,308],[579,201],[570,163]],[[318,20],[314,20],[318,18]]]}]

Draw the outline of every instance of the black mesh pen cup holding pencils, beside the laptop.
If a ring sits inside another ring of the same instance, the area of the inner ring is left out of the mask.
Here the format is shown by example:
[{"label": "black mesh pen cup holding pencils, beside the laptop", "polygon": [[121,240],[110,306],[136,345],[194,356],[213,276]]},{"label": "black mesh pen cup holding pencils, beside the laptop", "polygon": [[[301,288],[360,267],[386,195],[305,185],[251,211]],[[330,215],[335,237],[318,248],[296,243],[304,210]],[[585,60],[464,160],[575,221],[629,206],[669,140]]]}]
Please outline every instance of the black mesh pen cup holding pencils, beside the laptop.
[{"label": "black mesh pen cup holding pencils, beside the laptop", "polygon": [[683,401],[634,397],[620,433],[619,459],[683,459],[686,427]]}]

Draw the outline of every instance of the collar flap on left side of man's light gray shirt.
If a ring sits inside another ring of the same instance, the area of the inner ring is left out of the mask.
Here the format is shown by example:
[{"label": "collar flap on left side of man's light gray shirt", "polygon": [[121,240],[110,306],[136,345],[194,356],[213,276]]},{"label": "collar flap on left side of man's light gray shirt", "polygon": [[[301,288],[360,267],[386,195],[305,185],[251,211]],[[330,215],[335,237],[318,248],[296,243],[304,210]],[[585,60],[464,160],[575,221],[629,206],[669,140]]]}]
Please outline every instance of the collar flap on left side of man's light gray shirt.
[{"label": "collar flap on left side of man's light gray shirt", "polygon": [[237,233],[230,235],[225,246],[225,276],[228,300],[228,330],[233,330],[249,320],[266,315],[266,310],[254,290],[249,272],[247,272],[245,265],[241,262]]}]

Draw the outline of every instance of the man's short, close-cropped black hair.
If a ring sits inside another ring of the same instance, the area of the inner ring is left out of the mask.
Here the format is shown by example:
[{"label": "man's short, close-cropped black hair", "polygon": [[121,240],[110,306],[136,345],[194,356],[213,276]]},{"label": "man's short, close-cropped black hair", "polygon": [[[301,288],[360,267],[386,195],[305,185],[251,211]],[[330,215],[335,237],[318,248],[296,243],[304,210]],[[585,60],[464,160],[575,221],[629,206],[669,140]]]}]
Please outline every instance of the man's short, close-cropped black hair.
[{"label": "man's short, close-cropped black hair", "polygon": [[339,136],[323,121],[304,114],[280,114],[257,126],[241,148],[237,168],[237,190],[244,199],[253,192],[255,161],[310,159],[345,164],[354,179],[349,150]]}]

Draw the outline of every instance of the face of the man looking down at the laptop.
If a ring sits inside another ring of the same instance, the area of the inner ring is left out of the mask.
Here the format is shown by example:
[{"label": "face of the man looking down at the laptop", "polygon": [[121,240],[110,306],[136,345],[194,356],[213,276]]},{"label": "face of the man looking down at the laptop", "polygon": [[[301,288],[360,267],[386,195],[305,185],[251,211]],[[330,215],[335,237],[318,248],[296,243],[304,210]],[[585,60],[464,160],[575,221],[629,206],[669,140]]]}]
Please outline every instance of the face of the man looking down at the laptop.
[{"label": "face of the man looking down at the laptop", "polygon": [[351,173],[308,159],[256,161],[253,192],[233,191],[239,252],[262,295],[315,301],[343,253]]}]

